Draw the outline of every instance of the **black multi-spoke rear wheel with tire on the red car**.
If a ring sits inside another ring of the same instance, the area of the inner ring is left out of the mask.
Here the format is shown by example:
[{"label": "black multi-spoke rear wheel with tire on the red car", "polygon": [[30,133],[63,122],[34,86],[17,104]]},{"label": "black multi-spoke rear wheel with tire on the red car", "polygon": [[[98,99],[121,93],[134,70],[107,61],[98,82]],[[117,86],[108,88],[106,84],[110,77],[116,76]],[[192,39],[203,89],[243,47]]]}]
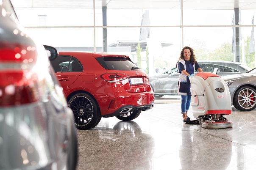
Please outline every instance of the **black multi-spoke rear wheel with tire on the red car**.
[{"label": "black multi-spoke rear wheel with tire on the red car", "polygon": [[74,114],[74,121],[77,129],[91,129],[100,122],[100,109],[96,101],[86,93],[78,93],[68,101],[68,107]]}]

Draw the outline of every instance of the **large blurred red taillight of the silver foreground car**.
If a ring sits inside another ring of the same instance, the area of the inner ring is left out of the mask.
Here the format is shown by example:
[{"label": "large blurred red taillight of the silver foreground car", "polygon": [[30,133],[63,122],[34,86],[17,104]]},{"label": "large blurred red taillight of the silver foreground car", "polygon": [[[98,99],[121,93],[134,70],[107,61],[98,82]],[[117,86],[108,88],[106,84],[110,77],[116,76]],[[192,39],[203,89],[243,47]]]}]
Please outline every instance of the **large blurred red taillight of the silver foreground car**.
[{"label": "large blurred red taillight of the silver foreground car", "polygon": [[28,104],[39,99],[37,76],[32,71],[35,47],[0,43],[0,107]]}]

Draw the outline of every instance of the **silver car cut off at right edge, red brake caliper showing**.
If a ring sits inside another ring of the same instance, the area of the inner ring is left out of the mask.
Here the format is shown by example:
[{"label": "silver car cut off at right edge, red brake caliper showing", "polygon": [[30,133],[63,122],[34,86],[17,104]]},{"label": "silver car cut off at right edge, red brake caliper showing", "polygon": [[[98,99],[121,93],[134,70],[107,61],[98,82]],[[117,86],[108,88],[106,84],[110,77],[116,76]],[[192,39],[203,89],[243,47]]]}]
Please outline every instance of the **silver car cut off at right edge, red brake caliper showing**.
[{"label": "silver car cut off at right edge, red brake caliper showing", "polygon": [[247,73],[222,77],[230,91],[231,103],[237,110],[256,108],[256,68]]}]

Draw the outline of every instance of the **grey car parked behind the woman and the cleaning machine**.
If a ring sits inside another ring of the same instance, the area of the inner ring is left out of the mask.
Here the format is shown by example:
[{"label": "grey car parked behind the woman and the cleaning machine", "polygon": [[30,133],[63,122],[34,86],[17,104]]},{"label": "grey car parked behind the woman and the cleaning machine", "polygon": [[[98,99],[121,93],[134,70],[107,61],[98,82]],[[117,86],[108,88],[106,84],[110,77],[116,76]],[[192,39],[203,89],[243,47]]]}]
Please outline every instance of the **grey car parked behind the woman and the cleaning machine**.
[{"label": "grey car parked behind the woman and the cleaning machine", "polygon": [[[231,74],[246,73],[251,69],[242,63],[231,61],[198,61],[204,72],[213,72],[218,68],[217,75],[220,77]],[[195,74],[197,71],[195,70]],[[162,74],[149,75],[149,82],[154,90],[155,97],[164,95],[177,95],[179,73],[176,67],[169,69]]]}]

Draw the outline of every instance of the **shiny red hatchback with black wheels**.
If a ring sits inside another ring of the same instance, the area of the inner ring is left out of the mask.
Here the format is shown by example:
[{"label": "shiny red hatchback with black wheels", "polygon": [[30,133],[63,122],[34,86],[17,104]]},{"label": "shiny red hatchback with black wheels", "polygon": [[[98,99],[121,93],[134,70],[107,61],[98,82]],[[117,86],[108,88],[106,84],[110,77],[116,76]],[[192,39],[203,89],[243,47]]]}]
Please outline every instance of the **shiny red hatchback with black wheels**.
[{"label": "shiny red hatchback with black wheels", "polygon": [[104,52],[59,52],[51,61],[78,129],[101,117],[130,121],[154,106],[147,74],[128,56]]}]

